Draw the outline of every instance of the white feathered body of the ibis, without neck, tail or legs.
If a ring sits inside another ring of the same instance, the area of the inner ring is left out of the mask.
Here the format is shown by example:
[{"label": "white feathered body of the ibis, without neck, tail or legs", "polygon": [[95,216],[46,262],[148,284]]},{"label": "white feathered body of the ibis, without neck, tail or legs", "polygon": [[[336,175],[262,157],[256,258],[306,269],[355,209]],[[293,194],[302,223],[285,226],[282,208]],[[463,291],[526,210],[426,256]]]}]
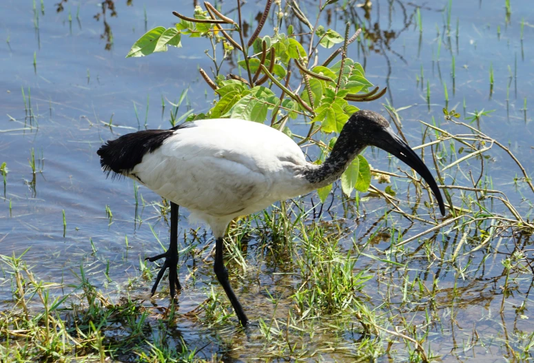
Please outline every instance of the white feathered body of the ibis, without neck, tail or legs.
[{"label": "white feathered body of the ibis, without neck, tail or legs", "polygon": [[194,121],[143,156],[130,178],[207,222],[228,222],[311,191],[300,147],[282,132],[236,119]]}]

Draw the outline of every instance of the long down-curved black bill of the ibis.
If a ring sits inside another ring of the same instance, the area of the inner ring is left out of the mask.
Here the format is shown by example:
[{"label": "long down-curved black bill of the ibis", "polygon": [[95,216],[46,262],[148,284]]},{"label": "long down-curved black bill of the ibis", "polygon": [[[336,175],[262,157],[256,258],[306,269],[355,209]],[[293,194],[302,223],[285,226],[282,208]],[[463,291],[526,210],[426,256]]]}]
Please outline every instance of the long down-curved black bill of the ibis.
[{"label": "long down-curved black bill of the ibis", "polygon": [[434,177],[430,173],[429,168],[427,168],[427,165],[424,165],[418,154],[415,154],[411,147],[393,132],[393,129],[388,129],[386,132],[387,135],[382,138],[380,145],[377,146],[389,152],[389,154],[396,156],[404,164],[408,165],[422,176],[430,189],[432,189],[435,198],[438,200],[442,216],[445,216],[445,205],[443,204],[440,189],[438,188],[438,184],[435,183]]}]

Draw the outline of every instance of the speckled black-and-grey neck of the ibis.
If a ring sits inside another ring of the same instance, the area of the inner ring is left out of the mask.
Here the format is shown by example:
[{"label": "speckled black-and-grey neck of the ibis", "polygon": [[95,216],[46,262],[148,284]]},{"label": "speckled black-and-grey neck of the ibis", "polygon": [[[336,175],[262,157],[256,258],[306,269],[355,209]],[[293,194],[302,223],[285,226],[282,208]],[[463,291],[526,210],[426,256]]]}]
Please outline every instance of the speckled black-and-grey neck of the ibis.
[{"label": "speckled black-and-grey neck of the ibis", "polygon": [[305,178],[313,189],[330,185],[345,172],[349,164],[362,152],[365,145],[355,141],[351,133],[344,128],[325,163],[309,165],[305,171]]}]

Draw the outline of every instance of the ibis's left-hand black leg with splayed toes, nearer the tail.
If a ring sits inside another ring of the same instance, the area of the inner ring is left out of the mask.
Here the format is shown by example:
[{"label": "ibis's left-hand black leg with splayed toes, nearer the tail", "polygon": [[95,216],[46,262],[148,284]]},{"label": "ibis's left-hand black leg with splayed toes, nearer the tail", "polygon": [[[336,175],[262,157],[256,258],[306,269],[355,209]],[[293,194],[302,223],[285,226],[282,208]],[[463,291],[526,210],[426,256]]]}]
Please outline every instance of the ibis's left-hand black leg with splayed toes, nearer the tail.
[{"label": "ibis's left-hand black leg with splayed toes, nearer the tail", "polygon": [[176,289],[181,290],[182,286],[180,284],[180,281],[178,281],[178,269],[176,268],[176,265],[178,264],[178,205],[172,202],[171,202],[171,240],[169,244],[169,249],[167,249],[167,252],[165,253],[161,253],[160,255],[154,256],[154,257],[147,257],[145,258],[145,260],[154,262],[164,257],[165,257],[165,262],[163,262],[163,266],[158,272],[158,276],[156,277],[156,282],[154,282],[154,286],[152,287],[151,293],[152,295],[156,293],[158,284],[161,278],[163,278],[163,273],[165,273],[165,270],[168,268],[171,298],[174,299],[176,296]]}]

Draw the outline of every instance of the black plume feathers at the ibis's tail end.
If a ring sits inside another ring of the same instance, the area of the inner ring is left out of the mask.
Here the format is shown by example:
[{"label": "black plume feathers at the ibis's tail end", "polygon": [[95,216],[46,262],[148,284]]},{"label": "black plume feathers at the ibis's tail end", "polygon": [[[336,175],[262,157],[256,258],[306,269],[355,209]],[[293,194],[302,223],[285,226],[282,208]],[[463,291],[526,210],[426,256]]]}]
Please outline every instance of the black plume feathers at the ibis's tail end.
[{"label": "black plume feathers at the ibis's tail end", "polygon": [[107,141],[96,152],[100,156],[100,165],[107,176],[113,172],[113,177],[125,175],[143,161],[143,156],[154,152],[163,145],[165,139],[172,136],[174,131],[187,127],[183,123],[172,129],[147,129],[131,134],[125,134],[115,140]]}]

